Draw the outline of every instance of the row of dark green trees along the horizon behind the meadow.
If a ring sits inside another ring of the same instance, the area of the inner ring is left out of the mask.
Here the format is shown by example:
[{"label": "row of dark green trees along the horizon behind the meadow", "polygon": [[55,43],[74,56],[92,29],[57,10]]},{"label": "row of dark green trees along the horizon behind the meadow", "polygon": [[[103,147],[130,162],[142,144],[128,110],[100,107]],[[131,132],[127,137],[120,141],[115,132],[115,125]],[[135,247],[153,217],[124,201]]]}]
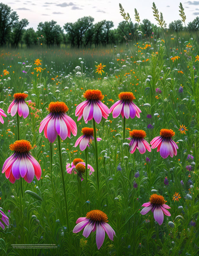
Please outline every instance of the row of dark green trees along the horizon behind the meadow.
[{"label": "row of dark green trees along the horizon behind the meadow", "polygon": [[[27,28],[27,19],[19,20],[17,12],[12,11],[7,4],[0,3],[0,46],[19,47],[25,44],[26,47],[33,47],[44,44],[48,47],[60,46],[61,44],[71,47],[98,47],[108,44],[122,44],[132,39],[139,39],[142,36],[150,37],[152,32],[157,36],[161,33],[160,27],[154,25],[148,19],[142,23],[126,22],[119,23],[114,28],[113,21],[102,20],[94,23],[91,16],[79,18],[75,23],[65,23],[63,28],[56,21],[40,22],[35,31]],[[199,17],[183,26],[181,20],[175,20],[168,26],[171,33],[188,31],[199,31]],[[129,33],[131,31],[131,33]]]}]

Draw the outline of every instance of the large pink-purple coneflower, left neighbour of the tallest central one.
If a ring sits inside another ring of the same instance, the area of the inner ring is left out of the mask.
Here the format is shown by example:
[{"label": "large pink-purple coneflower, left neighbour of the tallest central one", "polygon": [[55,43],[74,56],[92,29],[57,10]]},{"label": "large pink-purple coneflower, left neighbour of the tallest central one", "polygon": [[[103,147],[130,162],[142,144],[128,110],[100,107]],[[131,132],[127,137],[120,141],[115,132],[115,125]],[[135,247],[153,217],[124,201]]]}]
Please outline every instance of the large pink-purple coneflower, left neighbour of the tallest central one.
[{"label": "large pink-purple coneflower, left neighbour of the tallest central one", "polygon": [[54,142],[57,135],[65,140],[70,134],[77,135],[77,125],[66,112],[68,107],[64,102],[51,102],[48,106],[50,113],[41,121],[39,133],[44,129],[44,136],[49,142]]}]

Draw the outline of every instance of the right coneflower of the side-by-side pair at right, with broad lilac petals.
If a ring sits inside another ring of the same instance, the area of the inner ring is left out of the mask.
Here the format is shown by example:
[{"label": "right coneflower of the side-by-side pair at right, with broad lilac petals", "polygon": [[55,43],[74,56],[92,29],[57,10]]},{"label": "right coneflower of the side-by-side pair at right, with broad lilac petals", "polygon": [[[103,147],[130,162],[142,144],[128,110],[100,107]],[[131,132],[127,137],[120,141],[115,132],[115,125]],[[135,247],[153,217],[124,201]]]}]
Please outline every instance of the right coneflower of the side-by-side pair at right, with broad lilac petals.
[{"label": "right coneflower of the side-by-side pair at right, with broad lilac petals", "polygon": [[151,148],[157,148],[160,151],[162,158],[167,158],[169,155],[173,157],[177,155],[177,144],[171,139],[175,132],[171,129],[161,129],[160,136],[155,137],[151,142]]}]

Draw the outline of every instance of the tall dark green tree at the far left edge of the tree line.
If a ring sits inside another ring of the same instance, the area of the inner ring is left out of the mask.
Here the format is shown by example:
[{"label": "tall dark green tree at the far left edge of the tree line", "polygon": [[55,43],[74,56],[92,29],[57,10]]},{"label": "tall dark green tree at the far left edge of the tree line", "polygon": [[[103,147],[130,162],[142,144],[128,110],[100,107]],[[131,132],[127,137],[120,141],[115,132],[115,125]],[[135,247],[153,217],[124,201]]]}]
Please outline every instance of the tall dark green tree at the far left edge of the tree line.
[{"label": "tall dark green tree at the far left edge of the tree line", "polygon": [[12,12],[7,4],[0,3],[0,45],[3,46],[9,40],[12,26],[18,21],[16,12]]}]

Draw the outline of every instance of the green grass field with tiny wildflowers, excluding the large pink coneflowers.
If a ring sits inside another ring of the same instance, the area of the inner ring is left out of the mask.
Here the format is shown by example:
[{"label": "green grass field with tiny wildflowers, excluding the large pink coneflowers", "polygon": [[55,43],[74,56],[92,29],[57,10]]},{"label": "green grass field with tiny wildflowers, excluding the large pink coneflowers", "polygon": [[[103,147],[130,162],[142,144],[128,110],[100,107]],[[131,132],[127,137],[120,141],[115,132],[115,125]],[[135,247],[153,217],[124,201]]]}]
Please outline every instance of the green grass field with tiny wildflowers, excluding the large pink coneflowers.
[{"label": "green grass field with tiny wildflowers, excluding the large pink coneflowers", "polygon": [[[41,178],[27,183],[22,177],[14,184],[0,175],[0,207],[9,217],[9,226],[0,229],[1,255],[198,255],[199,254],[199,45],[196,40],[167,37],[129,43],[106,49],[1,49],[0,108],[5,113],[15,93],[27,93],[27,118],[19,117],[20,139],[31,142],[32,156],[41,166]],[[178,57],[176,57],[178,56]],[[41,65],[34,65],[35,60]],[[95,65],[106,65],[102,76]],[[79,66],[79,68],[76,68]],[[41,72],[34,68],[41,67]],[[9,71],[6,73],[4,70]],[[83,127],[75,110],[88,89],[99,89],[102,102],[110,108],[120,92],[132,92],[133,102],[142,111],[140,118],[119,115],[102,117],[88,151],[74,144]],[[50,102],[66,103],[77,125],[77,136],[56,139],[52,146],[39,133],[40,122],[49,113]],[[9,145],[17,140],[17,115],[3,117],[0,123],[1,167],[13,153]],[[180,132],[180,125],[187,127]],[[172,129],[177,155],[163,159],[157,148],[129,152],[129,130],[144,130],[150,143],[161,129]],[[124,139],[124,143],[123,143]],[[51,151],[52,149],[52,151]],[[66,164],[73,159],[86,160],[95,172],[68,174]],[[61,161],[60,161],[61,155]],[[99,165],[97,175],[96,156]],[[62,180],[64,171],[65,194]],[[99,187],[98,187],[99,182]],[[25,193],[32,191],[33,193]],[[150,211],[141,215],[142,204],[152,194],[162,195],[171,207],[159,225]],[[173,195],[179,193],[179,200]],[[65,209],[67,201],[68,218]],[[85,238],[82,231],[73,233],[76,220],[98,209],[108,217],[114,229],[114,241],[107,234],[101,248],[96,233]],[[1,215],[0,215],[1,217]],[[67,224],[68,223],[68,224]],[[12,244],[55,244],[51,249],[19,249]]]}]

